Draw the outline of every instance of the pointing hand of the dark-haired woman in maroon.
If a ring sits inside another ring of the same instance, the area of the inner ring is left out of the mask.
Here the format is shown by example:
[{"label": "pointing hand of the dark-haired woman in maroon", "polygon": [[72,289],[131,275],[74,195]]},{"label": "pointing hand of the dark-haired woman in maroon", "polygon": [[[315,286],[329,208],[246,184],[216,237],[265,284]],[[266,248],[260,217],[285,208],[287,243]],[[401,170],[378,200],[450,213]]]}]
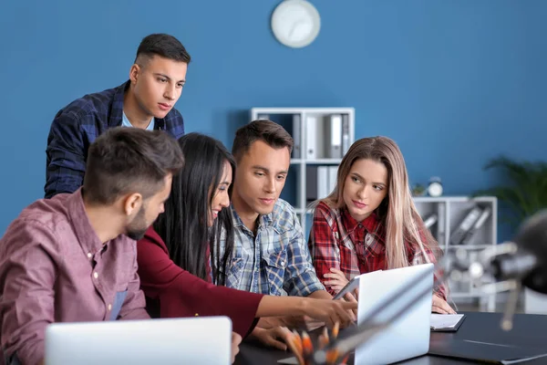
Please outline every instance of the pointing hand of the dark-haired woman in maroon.
[{"label": "pointing hand of the dark-haired woman in maroon", "polygon": [[346,300],[312,299],[304,298],[304,313],[306,316],[324,321],[332,328],[336,322],[341,327],[352,324],[356,317],[352,310],[357,308],[357,302]]}]

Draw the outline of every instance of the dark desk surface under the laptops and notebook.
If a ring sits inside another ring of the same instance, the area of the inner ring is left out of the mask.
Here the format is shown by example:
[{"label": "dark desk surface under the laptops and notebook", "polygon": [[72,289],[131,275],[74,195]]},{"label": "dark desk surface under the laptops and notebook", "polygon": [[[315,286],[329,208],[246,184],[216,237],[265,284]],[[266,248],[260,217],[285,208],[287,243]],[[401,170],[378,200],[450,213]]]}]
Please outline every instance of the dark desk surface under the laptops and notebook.
[{"label": "dark desk surface under the laptops and notebook", "polygon": [[[467,318],[457,332],[431,332],[431,341],[467,339],[503,345],[526,346],[547,352],[547,316],[518,314],[513,328],[505,332],[500,327],[501,313],[465,312]],[[265,349],[258,345],[243,343],[236,365],[269,365],[291,356],[290,352]],[[413,360],[399,362],[408,365],[469,364],[469,361],[426,355]],[[526,364],[545,364],[547,359],[532,360]]]}]

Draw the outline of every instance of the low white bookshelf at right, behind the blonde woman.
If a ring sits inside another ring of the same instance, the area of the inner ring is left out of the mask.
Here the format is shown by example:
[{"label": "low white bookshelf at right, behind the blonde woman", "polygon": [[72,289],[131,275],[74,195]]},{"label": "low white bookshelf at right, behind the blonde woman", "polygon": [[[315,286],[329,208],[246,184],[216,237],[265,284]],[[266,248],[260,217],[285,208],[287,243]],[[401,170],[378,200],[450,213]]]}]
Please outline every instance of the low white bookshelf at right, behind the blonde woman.
[{"label": "low white bookshelf at right, behind the blonde woman", "polygon": [[[456,249],[465,249],[470,257],[476,257],[480,251],[498,244],[498,200],[493,196],[471,198],[468,196],[441,196],[441,197],[414,197],[414,203],[418,213],[423,219],[430,214],[437,214],[438,221],[430,227],[431,234],[439,242],[445,255],[453,254]],[[482,207],[489,206],[490,216],[479,228],[475,235],[465,245],[450,244],[450,235],[456,230],[470,209],[479,204]],[[485,276],[484,283],[493,279]],[[449,279],[449,297],[456,303],[469,303],[478,300],[480,308],[490,312],[496,308],[496,294],[486,294],[475,287],[468,279],[451,281]]]}]

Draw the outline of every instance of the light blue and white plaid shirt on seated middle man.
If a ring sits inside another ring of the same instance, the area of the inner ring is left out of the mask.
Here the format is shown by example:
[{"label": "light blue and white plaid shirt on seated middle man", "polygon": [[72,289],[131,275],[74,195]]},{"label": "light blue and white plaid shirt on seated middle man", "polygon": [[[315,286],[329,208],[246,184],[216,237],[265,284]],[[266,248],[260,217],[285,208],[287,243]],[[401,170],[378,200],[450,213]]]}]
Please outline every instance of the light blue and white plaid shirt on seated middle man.
[{"label": "light blue and white plaid shirt on seated middle man", "polygon": [[[234,245],[226,287],[274,296],[307,297],[325,290],[315,275],[300,222],[291,204],[278,199],[260,215],[256,235],[232,209]],[[225,245],[222,235],[221,247]],[[223,255],[223,250],[219,255]]]}]

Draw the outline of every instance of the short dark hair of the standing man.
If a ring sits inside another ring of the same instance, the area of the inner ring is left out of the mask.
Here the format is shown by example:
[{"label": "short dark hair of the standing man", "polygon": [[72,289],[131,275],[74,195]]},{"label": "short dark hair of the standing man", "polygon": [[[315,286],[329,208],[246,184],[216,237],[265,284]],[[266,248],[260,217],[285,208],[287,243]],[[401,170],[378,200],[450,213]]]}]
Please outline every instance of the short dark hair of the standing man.
[{"label": "short dark hair of the standing man", "polygon": [[145,36],[140,42],[137,49],[137,57],[135,57],[135,63],[139,57],[151,58],[154,56],[160,56],[169,58],[174,61],[184,62],[189,64],[191,57],[186,51],[186,48],[182,46],[179,39],[167,34],[151,34]]}]

